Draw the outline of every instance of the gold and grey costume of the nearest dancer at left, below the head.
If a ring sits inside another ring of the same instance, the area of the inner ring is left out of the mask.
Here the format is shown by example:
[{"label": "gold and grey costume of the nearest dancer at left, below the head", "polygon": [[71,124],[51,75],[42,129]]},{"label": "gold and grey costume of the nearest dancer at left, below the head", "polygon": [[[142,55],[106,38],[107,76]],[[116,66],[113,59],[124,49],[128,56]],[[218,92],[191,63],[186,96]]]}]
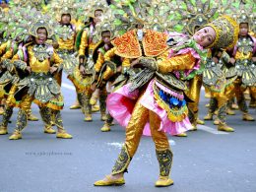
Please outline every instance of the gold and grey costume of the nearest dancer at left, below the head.
[{"label": "gold and grey costume of the nearest dancer at left, below the head", "polygon": [[[24,56],[22,49],[12,59],[14,65],[21,70],[25,71],[28,66],[31,67],[31,73],[17,85],[18,91],[15,94],[15,98],[21,99],[19,104],[20,110],[15,132],[10,139],[16,140],[22,138],[21,132],[27,126],[32,101],[37,103],[40,108],[40,115],[45,128],[51,127],[51,123],[53,123],[58,127],[58,130],[62,130],[62,132],[57,134],[57,137],[72,138],[63,128],[59,111],[63,107],[63,97],[60,93],[60,87],[55,79],[52,78],[53,76],[49,74],[50,67],[58,68],[62,60],[51,45],[28,44],[26,48],[28,60],[25,57],[24,59],[27,62],[21,60]],[[37,52],[37,50],[39,51]],[[45,52],[50,52],[50,54],[45,55]],[[27,91],[26,88],[28,88]]]}]

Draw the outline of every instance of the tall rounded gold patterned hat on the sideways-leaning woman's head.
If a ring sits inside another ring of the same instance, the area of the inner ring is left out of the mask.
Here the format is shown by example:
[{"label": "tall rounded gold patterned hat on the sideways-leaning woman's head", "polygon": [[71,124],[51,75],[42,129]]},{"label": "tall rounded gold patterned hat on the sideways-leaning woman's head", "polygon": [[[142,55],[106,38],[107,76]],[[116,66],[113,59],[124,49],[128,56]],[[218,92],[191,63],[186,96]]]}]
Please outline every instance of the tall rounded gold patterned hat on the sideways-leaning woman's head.
[{"label": "tall rounded gold patterned hat on the sideways-leaning woman's head", "polygon": [[215,41],[209,48],[231,48],[238,39],[239,27],[237,23],[228,16],[222,16],[204,27],[211,27],[216,32]]}]

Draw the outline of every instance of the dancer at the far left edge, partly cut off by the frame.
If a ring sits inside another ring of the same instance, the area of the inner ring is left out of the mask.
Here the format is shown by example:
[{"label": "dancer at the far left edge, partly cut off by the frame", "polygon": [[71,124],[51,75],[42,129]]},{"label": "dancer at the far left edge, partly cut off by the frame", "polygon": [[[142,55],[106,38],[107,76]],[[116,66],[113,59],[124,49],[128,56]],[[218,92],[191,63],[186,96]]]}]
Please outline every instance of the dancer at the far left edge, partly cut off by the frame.
[{"label": "dancer at the far left edge, partly cut off by the frame", "polygon": [[[5,15],[4,18],[9,18],[12,21],[17,22],[19,20],[19,12],[22,9],[19,8],[17,9],[16,7],[11,7],[11,9],[9,10],[8,13],[8,17],[7,15]],[[16,15],[14,15],[13,13],[16,13]],[[23,34],[21,32],[18,32],[17,29],[19,28],[19,26],[15,23],[8,23],[8,21],[2,20],[1,22],[3,22],[3,28],[7,29],[6,30],[6,34],[8,37],[10,38],[6,43],[3,44],[3,47],[5,47],[5,54],[1,57],[1,62],[2,65],[2,75],[0,78],[0,85],[1,85],[1,97],[2,98],[6,98],[6,103],[5,103],[5,110],[3,113],[3,119],[2,119],[2,123],[0,126],[0,135],[5,135],[8,133],[7,131],[7,126],[8,123],[10,121],[10,118],[13,114],[13,108],[15,106],[18,106],[18,103],[16,102],[16,100],[13,97],[13,94],[17,91],[17,84],[20,80],[21,77],[19,77],[19,75],[16,73],[15,67],[13,66],[12,62],[10,62],[10,59],[12,59],[12,57],[17,53],[18,51],[18,47],[23,46],[23,41],[24,39],[22,39],[20,36],[22,36]],[[11,36],[13,36],[13,40],[11,39]],[[37,121],[38,118],[36,116],[34,116],[32,114],[32,109],[30,109],[28,111],[28,120],[29,121]]]}]

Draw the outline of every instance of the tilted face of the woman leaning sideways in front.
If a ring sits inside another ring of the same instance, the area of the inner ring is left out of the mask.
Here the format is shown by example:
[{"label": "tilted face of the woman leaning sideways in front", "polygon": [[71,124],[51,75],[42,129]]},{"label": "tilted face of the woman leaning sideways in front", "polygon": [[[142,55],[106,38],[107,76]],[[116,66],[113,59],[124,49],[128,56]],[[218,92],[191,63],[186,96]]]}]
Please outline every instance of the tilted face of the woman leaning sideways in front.
[{"label": "tilted face of the woman leaning sideways in front", "polygon": [[203,47],[207,47],[215,41],[216,32],[211,27],[205,27],[195,32],[193,39]]}]

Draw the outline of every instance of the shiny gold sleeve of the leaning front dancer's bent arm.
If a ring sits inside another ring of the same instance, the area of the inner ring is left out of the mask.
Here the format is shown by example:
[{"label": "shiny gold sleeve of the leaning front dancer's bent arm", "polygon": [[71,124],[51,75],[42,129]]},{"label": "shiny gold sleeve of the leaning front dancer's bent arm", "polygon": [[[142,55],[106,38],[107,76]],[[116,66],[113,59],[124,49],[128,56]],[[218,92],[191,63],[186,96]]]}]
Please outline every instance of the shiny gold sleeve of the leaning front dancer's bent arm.
[{"label": "shiny gold sleeve of the leaning front dancer's bent arm", "polygon": [[175,70],[192,69],[196,63],[192,54],[186,53],[168,58],[168,52],[163,53],[157,59],[157,65],[160,73],[169,73]]}]

